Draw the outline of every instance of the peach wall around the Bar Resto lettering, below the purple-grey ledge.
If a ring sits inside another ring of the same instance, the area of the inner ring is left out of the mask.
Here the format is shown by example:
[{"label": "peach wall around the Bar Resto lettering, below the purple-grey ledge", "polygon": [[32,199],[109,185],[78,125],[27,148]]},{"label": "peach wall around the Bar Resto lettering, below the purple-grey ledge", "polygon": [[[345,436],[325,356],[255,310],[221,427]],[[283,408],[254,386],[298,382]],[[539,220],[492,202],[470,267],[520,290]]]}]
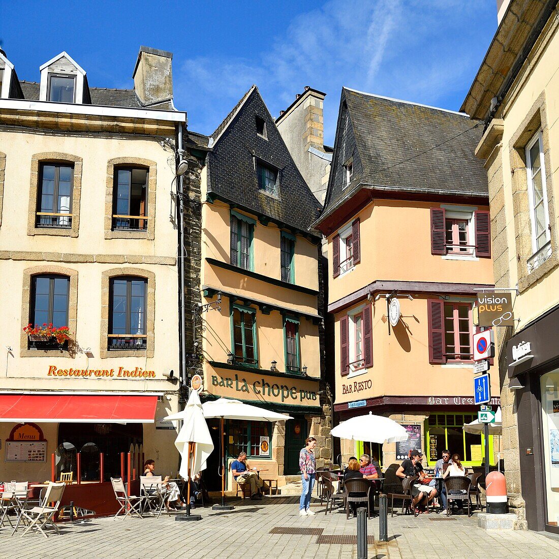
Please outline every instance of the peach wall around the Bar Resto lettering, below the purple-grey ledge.
[{"label": "peach wall around the Bar Resto lettering, below the purple-grey ledge", "polygon": [[[390,335],[386,323],[386,302],[384,299],[376,302],[373,306],[373,366],[359,376],[350,373],[352,378],[349,379],[340,376],[339,319],[351,309],[335,315],[335,403],[383,395],[473,396],[471,364],[429,363],[427,299],[424,296],[413,301],[400,299],[402,319],[395,328],[391,328]],[[352,387],[352,392],[344,394],[344,386],[347,392],[348,385]],[[492,377],[491,392],[492,396],[500,396],[498,375]],[[447,403],[454,404],[452,400]]]}]

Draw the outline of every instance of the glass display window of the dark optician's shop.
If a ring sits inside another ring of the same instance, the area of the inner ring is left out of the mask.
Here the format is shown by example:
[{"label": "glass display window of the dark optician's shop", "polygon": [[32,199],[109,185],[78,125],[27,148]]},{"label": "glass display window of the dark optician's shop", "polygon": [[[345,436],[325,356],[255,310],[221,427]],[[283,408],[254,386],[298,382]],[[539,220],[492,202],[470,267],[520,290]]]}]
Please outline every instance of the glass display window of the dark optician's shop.
[{"label": "glass display window of the dark optician's shop", "polygon": [[542,375],[540,388],[547,524],[559,526],[559,371]]}]

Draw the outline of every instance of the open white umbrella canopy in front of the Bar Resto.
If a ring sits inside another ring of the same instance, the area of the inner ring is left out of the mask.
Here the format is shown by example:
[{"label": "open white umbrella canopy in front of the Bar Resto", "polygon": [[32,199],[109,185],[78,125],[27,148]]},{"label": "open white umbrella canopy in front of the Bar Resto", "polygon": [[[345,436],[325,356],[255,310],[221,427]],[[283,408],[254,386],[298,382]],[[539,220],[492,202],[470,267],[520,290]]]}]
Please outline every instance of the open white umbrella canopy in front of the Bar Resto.
[{"label": "open white umbrella canopy in front of the Bar Resto", "polygon": [[409,434],[396,421],[382,415],[358,415],[343,421],[330,432],[340,439],[367,440],[372,443],[397,443],[408,440]]}]

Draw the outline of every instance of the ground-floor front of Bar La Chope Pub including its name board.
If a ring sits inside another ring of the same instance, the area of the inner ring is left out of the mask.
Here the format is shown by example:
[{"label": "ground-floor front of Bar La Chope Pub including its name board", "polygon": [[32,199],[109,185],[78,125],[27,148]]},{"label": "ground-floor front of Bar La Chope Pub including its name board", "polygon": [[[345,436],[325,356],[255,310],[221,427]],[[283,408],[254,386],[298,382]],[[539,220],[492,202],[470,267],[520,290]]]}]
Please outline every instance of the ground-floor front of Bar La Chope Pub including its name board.
[{"label": "ground-floor front of Bar La Chope Pub including its name board", "polygon": [[[312,434],[318,438],[320,435],[322,409],[318,378],[250,370],[228,363],[206,362],[204,367],[202,399],[226,397],[241,400],[293,418],[276,423],[226,420],[228,462],[240,452],[246,452],[250,466],[262,468],[262,477],[278,480],[280,486],[286,476],[299,475],[299,452],[305,446],[306,437]],[[208,424],[215,448],[219,448],[219,421],[209,420]],[[210,490],[218,490],[219,456],[213,454],[216,456],[209,458],[205,481]],[[230,473],[227,489],[235,490]]]}]

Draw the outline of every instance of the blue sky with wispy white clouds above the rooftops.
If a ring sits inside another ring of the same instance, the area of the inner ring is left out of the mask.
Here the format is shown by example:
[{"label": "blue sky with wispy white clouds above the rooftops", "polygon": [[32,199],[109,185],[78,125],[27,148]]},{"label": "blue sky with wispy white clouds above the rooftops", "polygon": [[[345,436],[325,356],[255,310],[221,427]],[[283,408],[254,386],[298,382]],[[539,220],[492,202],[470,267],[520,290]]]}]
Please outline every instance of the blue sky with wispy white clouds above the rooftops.
[{"label": "blue sky with wispy white clouds above the rooftops", "polygon": [[496,27],[495,0],[2,0],[0,41],[20,79],[65,50],[92,87],[131,88],[140,45],[170,50],[175,105],[205,134],[253,83],[273,116],[309,85],[331,144],[342,86],[458,110]]}]

